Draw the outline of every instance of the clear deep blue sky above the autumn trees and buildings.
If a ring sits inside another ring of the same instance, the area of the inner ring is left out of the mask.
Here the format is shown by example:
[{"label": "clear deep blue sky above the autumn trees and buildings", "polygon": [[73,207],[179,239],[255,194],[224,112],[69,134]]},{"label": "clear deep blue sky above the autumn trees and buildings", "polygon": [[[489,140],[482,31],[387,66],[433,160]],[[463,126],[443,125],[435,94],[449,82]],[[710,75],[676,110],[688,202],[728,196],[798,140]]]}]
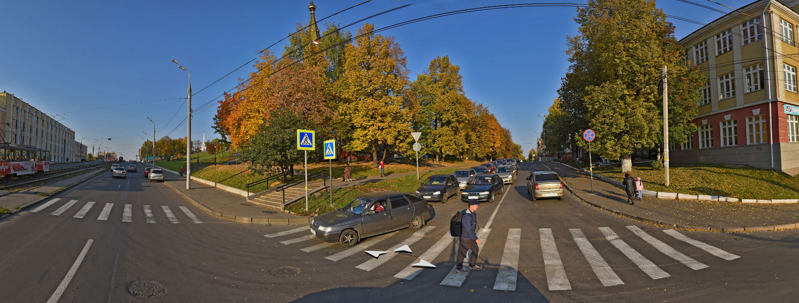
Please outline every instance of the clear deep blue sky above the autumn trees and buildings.
[{"label": "clear deep blue sky above the autumn trees and buildings", "polygon": [[[699,2],[701,0],[696,0]],[[362,1],[316,0],[316,18]],[[721,1],[739,8],[750,1]],[[478,0],[373,0],[328,19],[342,25],[397,6],[407,8],[368,22],[376,28],[431,14],[478,6],[514,4]],[[729,11],[712,2],[700,2]],[[187,78],[170,62],[192,73],[193,90],[221,78],[256,57],[297,22],[308,22],[308,1],[0,1],[0,90],[47,114],[62,114],[76,138],[98,138],[109,150],[133,158],[142,131],[157,138],[183,137]],[[721,13],[675,0],[658,7],[682,18],[711,22]],[[540,132],[541,119],[557,97],[568,62],[566,36],[577,34],[571,7],[491,10],[418,22],[383,32],[396,37],[407,55],[411,81],[432,58],[448,55],[461,67],[467,97],[488,106],[511,130],[525,153]],[[682,38],[700,26],[671,20]],[[348,28],[355,33],[363,22]],[[283,45],[272,48],[277,53]],[[193,97],[193,108],[237,85],[246,66]],[[129,106],[113,106],[146,102]],[[101,106],[113,106],[88,110]],[[82,110],[74,112],[77,110]],[[74,112],[74,113],[70,113]],[[193,139],[216,138],[211,110],[197,113]],[[70,113],[70,114],[64,114]],[[177,114],[176,114],[177,113]],[[173,118],[174,117],[174,118]],[[170,122],[171,120],[171,122]],[[167,124],[169,122],[169,124]],[[174,130],[174,131],[173,131]],[[107,138],[113,138],[108,141]],[[88,140],[84,140],[84,143]],[[89,144],[89,148],[91,148]]]}]

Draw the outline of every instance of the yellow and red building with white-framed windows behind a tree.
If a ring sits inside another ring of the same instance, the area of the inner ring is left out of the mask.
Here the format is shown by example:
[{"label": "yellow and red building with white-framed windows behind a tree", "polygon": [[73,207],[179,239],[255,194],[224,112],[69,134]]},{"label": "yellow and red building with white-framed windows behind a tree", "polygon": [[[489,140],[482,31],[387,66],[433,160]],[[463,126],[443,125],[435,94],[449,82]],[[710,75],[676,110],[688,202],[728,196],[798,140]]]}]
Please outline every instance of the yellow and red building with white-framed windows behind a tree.
[{"label": "yellow and red building with white-framed windows behind a tree", "polygon": [[707,82],[698,132],[670,146],[672,163],[735,164],[799,173],[799,0],[760,0],[680,40]]}]

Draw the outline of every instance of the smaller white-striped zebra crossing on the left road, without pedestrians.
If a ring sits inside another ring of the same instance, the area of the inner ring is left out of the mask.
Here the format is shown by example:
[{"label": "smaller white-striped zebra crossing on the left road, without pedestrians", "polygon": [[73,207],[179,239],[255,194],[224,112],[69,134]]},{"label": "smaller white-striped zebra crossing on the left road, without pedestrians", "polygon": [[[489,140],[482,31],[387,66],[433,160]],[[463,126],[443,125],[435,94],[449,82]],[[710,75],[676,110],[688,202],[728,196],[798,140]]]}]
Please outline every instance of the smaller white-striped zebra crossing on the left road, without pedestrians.
[{"label": "smaller white-striped zebra crossing on the left road, without pedestrians", "polygon": [[[41,212],[42,210],[47,209],[52,205],[56,205],[61,200],[62,200],[61,198],[54,198],[50,201],[46,201],[44,204],[39,205],[38,207],[32,209],[30,212],[31,213]],[[58,209],[55,209],[52,213],[50,213],[50,215],[61,216],[64,213],[70,213],[70,209],[72,209],[72,207],[76,204],[78,204],[78,200],[70,200],[61,205],[60,207],[58,207]],[[92,209],[95,208],[94,205],[99,205],[99,203],[97,203],[96,201],[87,201],[85,204],[81,206],[80,209],[78,209],[76,213],[74,213],[74,215],[72,215],[72,217],[83,219],[89,216],[89,213],[92,211]],[[108,221],[109,217],[111,217],[111,212],[113,211],[113,207],[114,203],[110,202],[105,203],[105,205],[99,211],[100,213],[97,214],[97,220]],[[197,216],[194,213],[192,213],[191,210],[189,210],[187,207],[185,206],[178,206],[178,207],[181,209],[182,213],[185,213],[186,217],[189,217],[191,221],[193,221],[196,224],[202,223],[202,221],[200,221],[200,219],[198,219]],[[99,206],[97,208],[99,208]],[[145,221],[147,223],[156,223],[156,215],[155,215],[156,212],[153,211],[153,207],[151,207],[151,205],[143,205],[141,211],[142,213],[144,213]],[[119,218],[123,222],[133,222],[134,212],[137,213],[137,211],[133,209],[132,204],[122,205],[122,213],[121,217]],[[167,220],[170,223],[177,224],[181,222],[180,220],[178,220],[175,213],[172,212],[172,209],[169,209],[169,206],[161,205],[161,212],[164,214],[164,216],[167,218]]]}]

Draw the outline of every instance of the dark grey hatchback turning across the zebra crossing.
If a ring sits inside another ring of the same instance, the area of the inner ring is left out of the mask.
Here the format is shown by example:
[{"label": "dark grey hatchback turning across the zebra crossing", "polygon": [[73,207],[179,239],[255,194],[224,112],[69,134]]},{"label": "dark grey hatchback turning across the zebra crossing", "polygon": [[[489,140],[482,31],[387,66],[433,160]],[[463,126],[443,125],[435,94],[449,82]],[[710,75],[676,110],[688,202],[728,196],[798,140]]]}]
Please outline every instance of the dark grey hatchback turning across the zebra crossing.
[{"label": "dark grey hatchback turning across the zebra crossing", "polygon": [[314,217],[311,233],[324,241],[338,241],[350,247],[366,237],[397,229],[420,229],[430,217],[427,201],[411,193],[364,193],[344,208]]}]

